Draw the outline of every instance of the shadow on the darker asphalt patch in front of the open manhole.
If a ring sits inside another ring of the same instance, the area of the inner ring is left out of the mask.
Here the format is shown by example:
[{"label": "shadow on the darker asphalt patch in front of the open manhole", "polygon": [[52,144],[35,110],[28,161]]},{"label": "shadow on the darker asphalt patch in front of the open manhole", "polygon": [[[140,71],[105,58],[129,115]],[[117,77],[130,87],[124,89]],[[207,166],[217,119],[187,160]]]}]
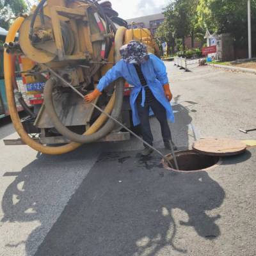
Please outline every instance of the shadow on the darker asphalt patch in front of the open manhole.
[{"label": "shadow on the darker asphalt patch in front of the open manhole", "polygon": [[[152,157],[147,164],[132,152],[102,155],[45,237],[39,255],[157,255],[175,245],[177,226],[193,227],[198,236],[220,236],[208,216],[225,192],[206,172],[169,172]],[[173,210],[188,214],[174,220]],[[186,234],[183,234],[186,236]],[[145,254],[144,254],[145,253]]]}]

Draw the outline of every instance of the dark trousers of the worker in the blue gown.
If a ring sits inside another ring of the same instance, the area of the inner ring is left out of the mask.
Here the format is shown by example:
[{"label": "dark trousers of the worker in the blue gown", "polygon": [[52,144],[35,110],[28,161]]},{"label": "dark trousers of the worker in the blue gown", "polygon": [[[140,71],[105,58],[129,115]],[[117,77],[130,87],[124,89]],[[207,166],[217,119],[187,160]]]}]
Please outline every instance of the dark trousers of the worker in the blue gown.
[{"label": "dark trousers of the worker in the blue gown", "polygon": [[161,125],[163,141],[168,142],[172,140],[171,131],[167,122],[166,110],[163,107],[163,105],[157,99],[154,99],[148,103],[146,100],[144,107],[141,106],[140,100],[136,100],[136,104],[138,108],[138,115],[140,117],[141,134],[142,134],[143,140],[145,140],[148,144],[153,145],[153,135],[152,135],[152,132],[150,129],[150,123],[149,123],[150,107],[152,108],[154,115],[156,116],[157,120]]}]

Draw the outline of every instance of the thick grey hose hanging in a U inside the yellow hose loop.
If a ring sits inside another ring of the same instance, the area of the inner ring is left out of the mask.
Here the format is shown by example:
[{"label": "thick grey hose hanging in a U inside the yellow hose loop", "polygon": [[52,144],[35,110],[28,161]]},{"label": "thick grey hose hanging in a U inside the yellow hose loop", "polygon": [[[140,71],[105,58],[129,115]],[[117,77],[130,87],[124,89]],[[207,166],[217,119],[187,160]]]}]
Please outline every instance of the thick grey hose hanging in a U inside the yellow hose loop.
[{"label": "thick grey hose hanging in a U inside the yellow hose loop", "polygon": [[[71,141],[79,142],[79,143],[92,143],[94,141],[100,140],[109,132],[113,131],[115,127],[115,122],[112,120],[108,120],[106,124],[97,132],[91,135],[83,135],[77,134],[75,132],[70,131],[65,125],[61,123],[60,118],[58,117],[56,110],[54,108],[53,100],[52,100],[52,90],[56,84],[56,79],[51,78],[49,79],[44,86],[44,102],[45,102],[45,111],[49,115],[54,127],[60,132],[63,136],[68,138]],[[116,84],[116,98],[115,98],[115,105],[111,116],[117,119],[120,116],[122,111],[122,104],[123,104],[123,93],[124,93],[124,79],[119,78],[115,82]]]}]

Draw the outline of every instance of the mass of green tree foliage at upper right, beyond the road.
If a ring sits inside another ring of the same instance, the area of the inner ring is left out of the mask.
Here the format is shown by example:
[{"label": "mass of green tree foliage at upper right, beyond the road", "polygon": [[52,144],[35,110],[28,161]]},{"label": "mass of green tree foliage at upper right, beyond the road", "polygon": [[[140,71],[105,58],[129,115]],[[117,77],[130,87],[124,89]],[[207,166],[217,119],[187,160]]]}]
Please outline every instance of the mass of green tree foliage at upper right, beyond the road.
[{"label": "mass of green tree foliage at upper right, beyond the road", "polygon": [[[252,40],[256,54],[256,0],[252,4]],[[164,9],[166,22],[157,35],[166,42],[176,42],[184,50],[185,38],[204,39],[206,29],[211,33],[230,33],[235,45],[246,49],[248,45],[247,0],[173,0]]]}]

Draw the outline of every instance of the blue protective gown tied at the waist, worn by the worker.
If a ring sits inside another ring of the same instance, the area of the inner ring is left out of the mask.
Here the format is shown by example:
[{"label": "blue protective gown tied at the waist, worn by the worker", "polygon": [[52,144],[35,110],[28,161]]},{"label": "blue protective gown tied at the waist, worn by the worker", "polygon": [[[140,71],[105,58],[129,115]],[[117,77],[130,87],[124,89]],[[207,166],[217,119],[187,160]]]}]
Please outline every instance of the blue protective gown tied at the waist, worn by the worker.
[{"label": "blue protective gown tied at the waist, worn by the worker", "polygon": [[[168,83],[168,77],[166,73],[166,67],[157,56],[154,54],[148,54],[149,59],[145,63],[141,64],[141,70],[145,79],[147,80],[147,85],[152,91],[154,97],[164,106],[166,109],[166,115],[168,120],[174,122],[174,115],[172,111],[172,106],[170,102],[166,99],[164,95],[163,85]],[[124,79],[131,85],[134,86],[130,95],[130,104],[132,109],[132,121],[134,125],[140,124],[140,118],[138,116],[136,98],[142,90],[142,102],[141,106],[145,103],[145,89],[140,83],[140,79],[136,72],[133,64],[129,64],[124,60],[120,60],[116,63],[113,68],[108,70],[108,72],[103,76],[97,89],[102,92],[110,83],[118,79],[119,77],[124,77]]]}]

